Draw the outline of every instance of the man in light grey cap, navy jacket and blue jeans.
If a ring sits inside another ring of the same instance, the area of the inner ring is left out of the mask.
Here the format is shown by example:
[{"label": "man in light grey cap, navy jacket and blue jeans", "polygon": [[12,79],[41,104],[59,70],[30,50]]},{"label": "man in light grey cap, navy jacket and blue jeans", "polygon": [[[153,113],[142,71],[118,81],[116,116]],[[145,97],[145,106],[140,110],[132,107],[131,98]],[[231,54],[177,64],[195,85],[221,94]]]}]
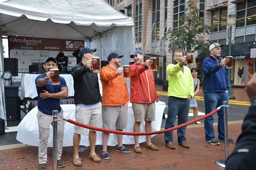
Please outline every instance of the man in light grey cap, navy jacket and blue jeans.
[{"label": "man in light grey cap, navy jacket and blue jeans", "polygon": [[[220,59],[223,44],[213,43],[209,47],[210,55],[203,60],[203,92],[206,114],[211,113],[217,107],[228,101],[228,76],[225,59]],[[224,108],[218,111],[218,141],[224,141]],[[205,140],[211,145],[219,145],[214,135],[214,115],[204,119]],[[229,143],[234,143],[232,138],[228,138]]]}]

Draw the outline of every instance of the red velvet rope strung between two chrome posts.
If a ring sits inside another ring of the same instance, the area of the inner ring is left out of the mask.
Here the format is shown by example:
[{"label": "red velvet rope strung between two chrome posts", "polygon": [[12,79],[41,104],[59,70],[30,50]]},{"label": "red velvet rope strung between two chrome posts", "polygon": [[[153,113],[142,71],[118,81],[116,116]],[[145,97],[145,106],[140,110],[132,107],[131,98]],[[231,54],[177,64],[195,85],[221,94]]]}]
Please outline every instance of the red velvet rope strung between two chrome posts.
[{"label": "red velvet rope strung between two chrome posts", "polygon": [[91,129],[91,130],[96,130],[96,131],[101,131],[101,132],[106,132],[106,133],[115,133],[115,134],[120,134],[120,135],[134,135],[134,136],[141,136],[141,135],[155,135],[155,134],[159,134],[159,133],[165,133],[165,132],[169,132],[169,131],[172,131],[172,130],[175,130],[175,129],[179,129],[181,127],[184,127],[184,126],[188,126],[190,124],[193,124],[197,121],[200,121],[204,118],[207,118],[209,116],[211,116],[212,114],[216,113],[217,111],[220,110],[220,107],[215,109],[214,111],[212,111],[211,113],[208,113],[200,118],[197,118],[197,119],[194,119],[193,121],[190,121],[190,122],[186,122],[184,124],[181,124],[181,125],[178,125],[178,126],[175,126],[175,127],[172,127],[170,129],[165,129],[165,130],[159,130],[159,131],[154,131],[154,132],[123,132],[123,131],[117,131],[117,130],[109,130],[109,129],[103,129],[103,128],[100,128],[100,127],[94,127],[94,126],[89,126],[89,125],[85,125],[85,124],[82,124],[82,123],[79,123],[79,122],[76,122],[76,121],[73,121],[71,119],[68,119],[68,118],[64,118],[63,117],[63,120],[67,121],[67,122],[70,122],[72,124],[75,124],[77,126],[80,126],[80,127],[84,127],[84,128],[87,128],[87,129]]}]

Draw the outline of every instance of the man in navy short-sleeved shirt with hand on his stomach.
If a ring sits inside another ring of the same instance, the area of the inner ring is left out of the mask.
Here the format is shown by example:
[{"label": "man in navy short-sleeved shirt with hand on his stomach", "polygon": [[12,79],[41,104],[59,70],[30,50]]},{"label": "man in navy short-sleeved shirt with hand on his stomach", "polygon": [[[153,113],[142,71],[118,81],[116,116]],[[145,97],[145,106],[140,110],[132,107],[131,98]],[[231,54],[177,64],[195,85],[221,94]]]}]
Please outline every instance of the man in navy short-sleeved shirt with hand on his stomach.
[{"label": "man in navy short-sleeved shirt with hand on his stomach", "polygon": [[[68,87],[63,77],[60,77],[60,84],[52,85],[50,83],[50,69],[58,68],[57,61],[49,57],[44,63],[45,73],[36,77],[37,99],[37,121],[39,126],[39,147],[38,159],[39,170],[46,170],[47,163],[47,143],[49,138],[50,124],[53,123],[52,111],[58,110],[58,116],[63,116],[63,110],[60,107],[60,99],[68,96]],[[58,167],[65,167],[61,160],[62,142],[64,135],[64,121],[58,118],[58,137],[57,137],[57,164]]]}]

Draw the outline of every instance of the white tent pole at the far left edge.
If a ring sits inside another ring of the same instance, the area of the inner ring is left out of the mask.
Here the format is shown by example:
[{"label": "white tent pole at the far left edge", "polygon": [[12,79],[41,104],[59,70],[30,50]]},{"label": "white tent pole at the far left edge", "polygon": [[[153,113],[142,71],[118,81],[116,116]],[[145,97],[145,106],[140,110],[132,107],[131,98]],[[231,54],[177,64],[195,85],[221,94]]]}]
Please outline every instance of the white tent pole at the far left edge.
[{"label": "white tent pole at the far left edge", "polygon": [[[2,32],[0,31],[0,73],[3,73],[3,40],[2,40]],[[2,100],[3,100],[3,113],[5,117],[5,129],[7,129],[7,119],[6,119],[6,107],[5,107],[5,87],[3,84],[3,79],[1,78],[1,92],[2,92]]]}]

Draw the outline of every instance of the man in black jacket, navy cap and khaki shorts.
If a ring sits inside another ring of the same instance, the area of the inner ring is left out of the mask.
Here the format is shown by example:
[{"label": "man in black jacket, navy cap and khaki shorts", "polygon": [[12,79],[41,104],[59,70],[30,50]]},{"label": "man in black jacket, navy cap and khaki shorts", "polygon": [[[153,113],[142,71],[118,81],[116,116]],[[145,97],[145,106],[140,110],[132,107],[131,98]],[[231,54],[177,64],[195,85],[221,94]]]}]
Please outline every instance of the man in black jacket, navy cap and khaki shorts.
[{"label": "man in black jacket, navy cap and khaki shorts", "polygon": [[[94,73],[92,67],[93,52],[96,49],[84,47],[80,50],[79,56],[81,62],[76,64],[71,75],[74,80],[74,101],[76,105],[76,121],[94,127],[101,125],[101,96],[97,73]],[[86,135],[87,129],[75,126],[73,135],[73,163],[77,167],[82,166],[79,158],[78,148],[81,135]],[[95,153],[96,131],[89,130],[90,154],[89,159],[94,162],[100,162],[99,156]]]}]

